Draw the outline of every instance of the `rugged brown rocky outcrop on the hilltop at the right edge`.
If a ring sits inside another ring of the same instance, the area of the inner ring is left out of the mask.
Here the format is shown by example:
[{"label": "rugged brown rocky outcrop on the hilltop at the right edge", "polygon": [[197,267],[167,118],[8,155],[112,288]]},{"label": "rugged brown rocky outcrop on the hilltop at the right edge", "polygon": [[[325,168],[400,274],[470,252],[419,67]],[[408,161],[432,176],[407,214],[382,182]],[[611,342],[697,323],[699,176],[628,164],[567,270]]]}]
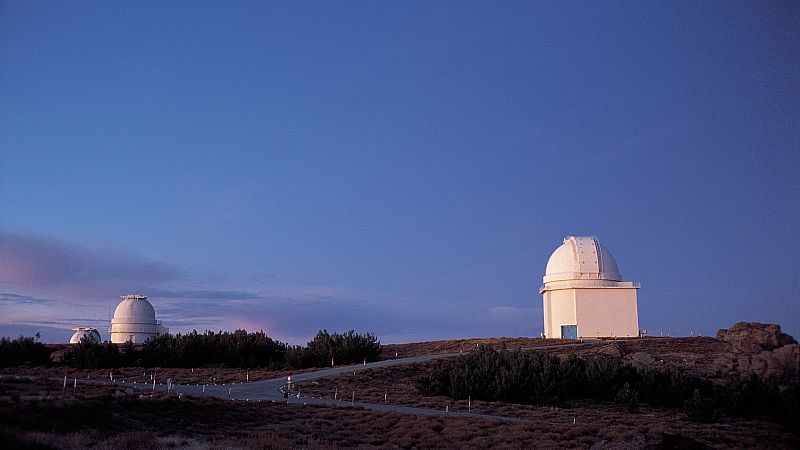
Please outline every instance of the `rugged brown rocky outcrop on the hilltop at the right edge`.
[{"label": "rugged brown rocky outcrop on the hilltop at the right edge", "polygon": [[800,346],[780,325],[739,322],[717,331],[717,339],[731,346],[728,369],[755,374],[779,384],[796,383],[800,375]]}]

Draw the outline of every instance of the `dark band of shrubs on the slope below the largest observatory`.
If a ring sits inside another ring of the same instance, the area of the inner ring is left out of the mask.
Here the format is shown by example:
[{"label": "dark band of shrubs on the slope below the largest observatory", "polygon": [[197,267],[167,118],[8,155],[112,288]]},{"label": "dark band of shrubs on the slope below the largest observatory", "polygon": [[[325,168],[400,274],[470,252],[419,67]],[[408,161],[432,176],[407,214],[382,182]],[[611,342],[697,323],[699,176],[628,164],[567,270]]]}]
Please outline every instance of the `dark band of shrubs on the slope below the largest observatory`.
[{"label": "dark band of shrubs on the slope below the largest observatory", "polygon": [[667,369],[638,368],[619,358],[559,357],[539,352],[495,351],[481,347],[455,361],[442,361],[417,381],[425,394],[460,400],[557,404],[569,399],[613,400],[630,410],[643,401],[681,407],[693,420],[720,413],[771,416],[798,422],[798,386],[779,390],[753,375],[726,386]]}]

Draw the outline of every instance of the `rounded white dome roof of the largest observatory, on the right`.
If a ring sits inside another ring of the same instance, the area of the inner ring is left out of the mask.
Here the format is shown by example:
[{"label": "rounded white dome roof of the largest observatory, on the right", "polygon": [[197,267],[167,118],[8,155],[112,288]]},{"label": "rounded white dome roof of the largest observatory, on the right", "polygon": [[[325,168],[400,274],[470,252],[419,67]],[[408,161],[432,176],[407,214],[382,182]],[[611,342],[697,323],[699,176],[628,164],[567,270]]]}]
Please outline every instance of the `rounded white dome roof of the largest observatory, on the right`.
[{"label": "rounded white dome roof of the largest observatory, on the right", "polygon": [[567,236],[547,261],[544,282],[622,281],[617,261],[594,236]]}]

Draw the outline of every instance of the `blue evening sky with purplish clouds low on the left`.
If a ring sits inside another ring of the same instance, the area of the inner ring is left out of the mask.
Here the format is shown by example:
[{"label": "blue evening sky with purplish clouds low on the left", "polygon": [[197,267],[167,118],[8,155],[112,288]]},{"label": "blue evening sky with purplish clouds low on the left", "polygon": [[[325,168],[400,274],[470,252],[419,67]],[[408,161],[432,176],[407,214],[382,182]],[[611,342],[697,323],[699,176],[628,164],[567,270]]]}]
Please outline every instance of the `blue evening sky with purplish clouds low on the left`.
[{"label": "blue evening sky with purplish clouds low on the left", "polygon": [[594,235],[798,337],[799,130],[797,2],[0,0],[0,335],[538,336]]}]

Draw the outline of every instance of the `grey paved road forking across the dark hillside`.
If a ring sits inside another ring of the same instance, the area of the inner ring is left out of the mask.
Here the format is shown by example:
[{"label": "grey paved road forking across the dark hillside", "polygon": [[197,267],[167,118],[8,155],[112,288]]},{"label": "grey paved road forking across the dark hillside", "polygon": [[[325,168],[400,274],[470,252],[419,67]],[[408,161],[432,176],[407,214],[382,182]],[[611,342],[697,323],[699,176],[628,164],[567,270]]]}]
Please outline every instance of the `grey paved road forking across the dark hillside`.
[{"label": "grey paved road forking across the dark hillside", "polygon": [[[553,344],[541,347],[531,347],[523,350],[543,350],[543,349],[565,347],[565,346],[594,345],[597,343],[598,342],[592,342],[592,341],[587,341],[584,343],[570,342],[570,343]],[[355,364],[350,366],[332,367],[330,369],[323,369],[314,372],[306,372],[306,373],[299,373],[296,375],[292,375],[292,382],[297,383],[301,381],[311,381],[318,378],[325,378],[338,375],[341,373],[358,372],[361,370],[375,369],[378,367],[391,367],[391,366],[398,366],[405,364],[413,364],[423,361],[431,361],[435,359],[453,358],[461,354],[462,353],[459,352],[459,353],[442,353],[437,355],[412,356],[408,358],[387,359],[367,364]],[[286,385],[286,378],[280,377],[280,378],[272,378],[269,380],[254,381],[251,383],[231,383],[225,385],[222,384],[205,385],[205,386],[173,385],[172,391],[179,395],[213,396],[219,398],[227,398],[231,400],[244,400],[244,401],[281,402],[284,401],[284,396],[283,392],[281,391],[281,388],[283,388],[285,385]],[[137,385],[128,384],[128,386],[145,390],[152,389],[152,385],[146,385],[146,384],[137,384]],[[167,387],[164,385],[157,385],[156,389],[158,389],[159,391],[165,391],[167,390]],[[417,408],[412,406],[402,406],[402,405],[383,404],[383,403],[359,403],[359,402],[350,402],[346,400],[343,401],[343,400],[331,400],[331,399],[318,399],[312,397],[298,398],[296,395],[290,395],[289,402],[302,403],[302,404],[353,406],[353,407],[371,409],[375,411],[392,411],[404,414],[421,414],[426,416],[438,416],[442,414],[447,414],[450,416],[482,417],[485,419],[493,419],[493,420],[512,420],[512,421],[521,420],[511,417],[471,414],[471,413],[457,412],[457,411],[446,412],[444,409]]]}]

